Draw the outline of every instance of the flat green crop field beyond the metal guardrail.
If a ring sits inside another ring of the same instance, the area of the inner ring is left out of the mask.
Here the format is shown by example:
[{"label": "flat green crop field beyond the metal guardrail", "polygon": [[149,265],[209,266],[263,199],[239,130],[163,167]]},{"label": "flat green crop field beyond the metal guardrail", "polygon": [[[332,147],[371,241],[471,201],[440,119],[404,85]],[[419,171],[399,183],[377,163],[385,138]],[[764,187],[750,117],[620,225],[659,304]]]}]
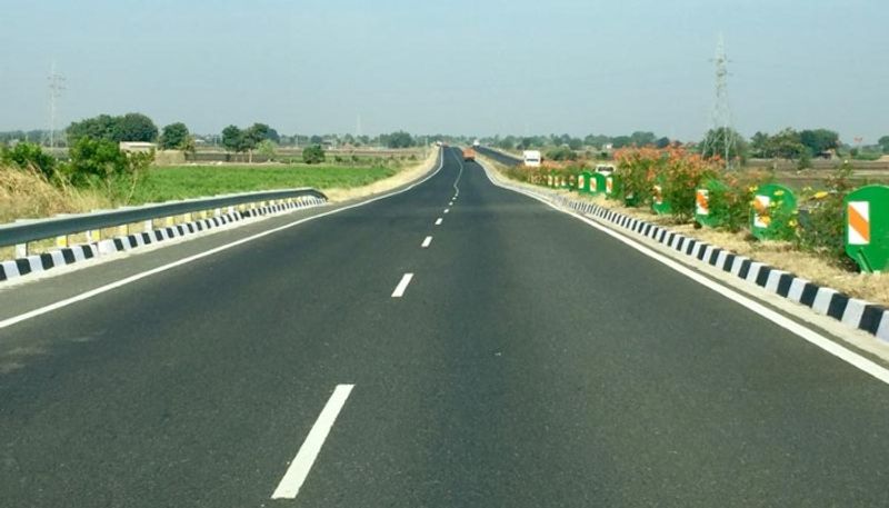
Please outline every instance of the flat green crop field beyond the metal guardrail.
[{"label": "flat green crop field beyond the metal guardrail", "polygon": [[131,203],[159,202],[252,190],[366,186],[390,177],[393,167],[338,166],[172,166],[151,168]]}]

